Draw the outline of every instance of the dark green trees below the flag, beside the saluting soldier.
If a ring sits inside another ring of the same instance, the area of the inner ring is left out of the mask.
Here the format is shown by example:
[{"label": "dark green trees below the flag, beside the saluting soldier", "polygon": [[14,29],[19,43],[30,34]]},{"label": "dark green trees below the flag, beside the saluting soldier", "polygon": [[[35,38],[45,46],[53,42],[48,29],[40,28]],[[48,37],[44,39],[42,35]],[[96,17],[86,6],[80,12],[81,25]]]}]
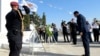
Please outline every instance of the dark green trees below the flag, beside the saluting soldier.
[{"label": "dark green trees below the flag, beside the saluting soldier", "polygon": [[36,25],[36,27],[40,27],[41,25],[46,25],[46,15],[43,13],[42,18],[33,12],[32,15],[24,15],[24,29],[29,29],[30,21],[33,21],[33,23]]}]

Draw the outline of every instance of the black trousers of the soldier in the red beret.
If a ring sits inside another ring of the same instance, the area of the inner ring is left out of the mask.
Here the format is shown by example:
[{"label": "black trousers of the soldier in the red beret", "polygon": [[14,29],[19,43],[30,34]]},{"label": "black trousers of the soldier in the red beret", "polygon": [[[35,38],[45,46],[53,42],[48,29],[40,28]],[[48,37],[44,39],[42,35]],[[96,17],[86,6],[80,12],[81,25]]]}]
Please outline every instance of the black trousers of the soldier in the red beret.
[{"label": "black trousers of the soldier in the red beret", "polygon": [[17,31],[10,31],[7,34],[10,53],[9,56],[20,56],[22,48],[22,33]]}]

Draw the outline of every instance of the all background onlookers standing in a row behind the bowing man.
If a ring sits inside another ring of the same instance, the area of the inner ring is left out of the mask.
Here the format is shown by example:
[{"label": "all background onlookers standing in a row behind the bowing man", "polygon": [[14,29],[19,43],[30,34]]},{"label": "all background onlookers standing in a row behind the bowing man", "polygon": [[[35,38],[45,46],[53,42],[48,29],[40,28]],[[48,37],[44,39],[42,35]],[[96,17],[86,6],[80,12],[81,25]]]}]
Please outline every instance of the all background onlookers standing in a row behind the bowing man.
[{"label": "all background onlookers standing in a row behind the bowing man", "polygon": [[[94,18],[94,21],[92,24],[90,24],[88,21],[86,21],[86,27],[88,29],[89,42],[92,43],[93,39],[94,39],[94,42],[99,42],[100,24],[98,23],[96,18]],[[47,34],[47,30],[45,30],[46,28],[47,28],[46,26],[39,28],[38,33],[40,35],[40,39],[44,39],[47,42],[49,33]],[[50,28],[51,28],[51,30],[50,30]],[[66,21],[62,21],[61,28],[62,28],[62,34],[64,37],[64,42],[72,41],[73,44],[76,45],[77,44],[77,35],[79,35],[79,27],[78,27],[78,24],[75,22],[75,19],[72,18],[71,21],[68,23],[66,23]],[[49,27],[49,30],[51,31],[51,35],[52,35],[52,40],[50,40],[50,41],[58,42],[59,31],[56,27],[56,24],[52,23],[52,25],[50,25],[50,27]],[[91,33],[93,33],[94,38],[92,37]],[[68,37],[69,35],[70,35],[70,38]]]}]

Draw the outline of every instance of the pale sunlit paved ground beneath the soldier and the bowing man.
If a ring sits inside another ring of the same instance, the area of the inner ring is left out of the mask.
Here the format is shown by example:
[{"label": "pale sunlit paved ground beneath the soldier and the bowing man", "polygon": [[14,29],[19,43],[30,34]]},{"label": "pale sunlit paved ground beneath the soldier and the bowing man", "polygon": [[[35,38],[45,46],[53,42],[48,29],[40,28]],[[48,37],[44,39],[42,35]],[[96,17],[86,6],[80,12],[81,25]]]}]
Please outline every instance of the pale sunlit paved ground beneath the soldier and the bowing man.
[{"label": "pale sunlit paved ground beneath the soldier and the bowing man", "polygon": [[[91,56],[100,56],[100,43],[91,43],[90,51]],[[5,48],[0,49],[0,56],[8,56],[8,54],[8,45],[5,45]],[[21,56],[81,56],[82,54],[84,49],[80,37],[78,44],[72,45],[72,42],[64,43],[60,36],[58,43],[23,44]]]}]

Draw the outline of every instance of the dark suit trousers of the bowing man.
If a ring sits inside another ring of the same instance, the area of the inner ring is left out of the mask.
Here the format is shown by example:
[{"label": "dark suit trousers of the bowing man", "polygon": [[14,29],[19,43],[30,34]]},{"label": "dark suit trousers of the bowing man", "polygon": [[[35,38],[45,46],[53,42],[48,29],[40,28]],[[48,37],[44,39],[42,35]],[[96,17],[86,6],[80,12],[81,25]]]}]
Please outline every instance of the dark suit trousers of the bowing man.
[{"label": "dark suit trousers of the bowing man", "polygon": [[89,47],[88,33],[83,33],[81,38],[82,38],[83,47],[84,47],[84,50],[85,50],[85,56],[90,56],[90,47]]}]

